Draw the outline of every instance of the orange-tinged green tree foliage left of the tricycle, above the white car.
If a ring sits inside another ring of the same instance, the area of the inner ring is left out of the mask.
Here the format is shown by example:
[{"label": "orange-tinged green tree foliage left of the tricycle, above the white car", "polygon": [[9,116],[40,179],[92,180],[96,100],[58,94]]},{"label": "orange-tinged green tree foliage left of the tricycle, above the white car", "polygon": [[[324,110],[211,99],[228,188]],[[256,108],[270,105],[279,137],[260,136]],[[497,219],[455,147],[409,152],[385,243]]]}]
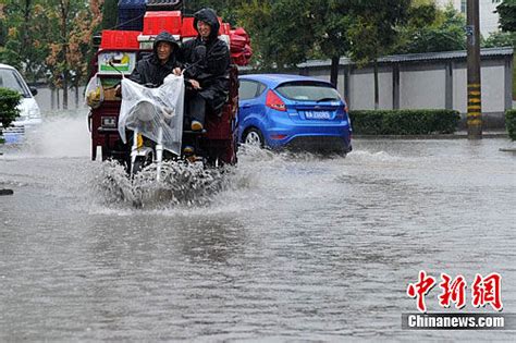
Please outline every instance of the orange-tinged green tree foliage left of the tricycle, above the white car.
[{"label": "orange-tinged green tree foliage left of the tricycle, above the white car", "polygon": [[[32,82],[58,87],[85,82],[90,39],[103,0],[0,0],[0,62]],[[63,106],[67,106],[66,94]]]}]

